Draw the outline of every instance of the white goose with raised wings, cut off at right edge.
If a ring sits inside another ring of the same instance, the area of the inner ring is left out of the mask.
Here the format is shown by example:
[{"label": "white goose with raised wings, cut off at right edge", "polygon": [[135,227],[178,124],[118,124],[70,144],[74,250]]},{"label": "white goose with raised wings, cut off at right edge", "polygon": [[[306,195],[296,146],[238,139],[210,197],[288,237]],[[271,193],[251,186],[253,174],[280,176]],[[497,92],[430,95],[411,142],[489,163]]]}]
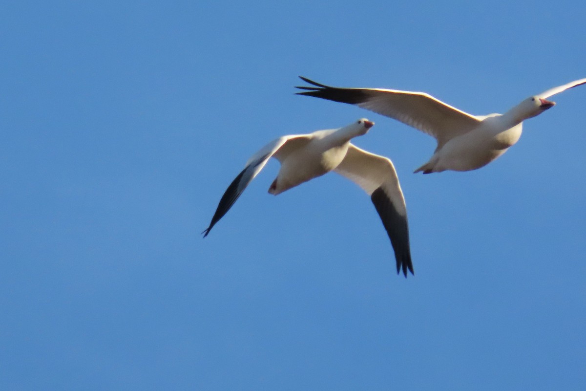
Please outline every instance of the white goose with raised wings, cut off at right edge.
[{"label": "white goose with raised wings, cut off at right edge", "polygon": [[524,120],[556,104],[546,98],[586,84],[586,79],[580,79],[554,87],[523,100],[505,114],[472,115],[422,92],[339,88],[301,79],[314,87],[297,87],[307,90],[299,95],[355,104],[435,137],[434,155],[415,170],[423,174],[471,171],[489,164],[519,140]]}]

